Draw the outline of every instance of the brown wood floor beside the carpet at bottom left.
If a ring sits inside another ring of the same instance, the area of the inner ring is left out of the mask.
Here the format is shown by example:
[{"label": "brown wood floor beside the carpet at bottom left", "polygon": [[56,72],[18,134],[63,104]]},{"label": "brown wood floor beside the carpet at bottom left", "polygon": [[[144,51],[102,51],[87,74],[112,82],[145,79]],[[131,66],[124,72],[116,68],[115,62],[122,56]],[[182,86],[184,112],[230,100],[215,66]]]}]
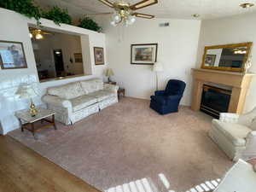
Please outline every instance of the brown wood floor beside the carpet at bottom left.
[{"label": "brown wood floor beside the carpet at bottom left", "polygon": [[0,192],[52,191],[99,192],[13,138],[0,136]]}]

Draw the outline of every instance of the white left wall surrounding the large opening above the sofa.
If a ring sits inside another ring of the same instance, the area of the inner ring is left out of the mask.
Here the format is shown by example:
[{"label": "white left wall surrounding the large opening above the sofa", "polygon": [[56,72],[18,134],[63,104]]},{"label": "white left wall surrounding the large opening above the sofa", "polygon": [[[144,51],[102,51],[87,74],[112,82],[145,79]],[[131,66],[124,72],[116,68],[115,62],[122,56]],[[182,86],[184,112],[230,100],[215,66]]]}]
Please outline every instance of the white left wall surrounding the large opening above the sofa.
[{"label": "white left wall surrounding the large opening above the sofa", "polygon": [[[25,16],[17,14],[7,9],[0,9],[0,40],[22,42],[28,67],[25,69],[0,69],[0,134],[6,134],[9,131],[19,127],[18,120],[15,118],[15,111],[27,108],[28,102],[20,100],[15,96],[20,83],[36,83],[38,86],[39,96],[35,98],[36,104],[41,103],[41,96],[44,95],[45,89],[49,86],[66,84],[72,81],[83,79],[91,79],[93,77],[101,77],[106,67],[108,67],[107,57],[104,66],[95,66],[93,47],[103,47],[105,45],[105,34],[92,32],[76,26],[61,25],[56,26],[51,20],[41,20],[42,26],[54,29],[56,32],[67,32],[81,36],[83,58],[89,62],[87,71],[90,70],[88,76],[77,77],[73,79],[63,79],[50,81],[45,83],[38,82],[36,62],[32,50],[32,42],[29,38],[28,24],[35,25],[35,20],[29,20]],[[105,54],[106,56],[106,54]]]}]

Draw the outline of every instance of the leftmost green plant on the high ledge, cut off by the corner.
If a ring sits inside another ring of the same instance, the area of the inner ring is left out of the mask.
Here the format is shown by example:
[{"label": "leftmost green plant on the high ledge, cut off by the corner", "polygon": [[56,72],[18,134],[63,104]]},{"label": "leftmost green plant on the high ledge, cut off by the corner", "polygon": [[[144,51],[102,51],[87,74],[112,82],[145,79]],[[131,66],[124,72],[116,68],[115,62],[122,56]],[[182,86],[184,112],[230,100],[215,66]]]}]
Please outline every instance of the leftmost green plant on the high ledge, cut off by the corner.
[{"label": "leftmost green plant on the high ledge, cut off by the corner", "polygon": [[0,0],[0,7],[4,9],[14,10],[21,15],[39,20],[41,18],[40,9],[34,5],[33,0]]}]

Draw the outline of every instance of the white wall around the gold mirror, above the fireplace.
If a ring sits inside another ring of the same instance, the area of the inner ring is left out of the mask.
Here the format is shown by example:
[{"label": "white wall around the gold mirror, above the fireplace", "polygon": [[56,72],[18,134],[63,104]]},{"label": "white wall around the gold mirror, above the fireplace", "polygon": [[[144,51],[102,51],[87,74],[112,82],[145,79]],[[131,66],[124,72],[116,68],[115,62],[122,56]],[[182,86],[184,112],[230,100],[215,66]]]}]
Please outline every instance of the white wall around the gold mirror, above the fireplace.
[{"label": "white wall around the gold mirror, above the fireplace", "polygon": [[[201,66],[201,57],[204,47],[218,44],[237,44],[253,42],[256,44],[256,14],[238,15],[224,19],[203,20],[201,23],[201,38],[197,56],[198,66]],[[253,45],[253,67],[249,70],[256,73],[256,49]],[[256,77],[248,91],[245,111],[256,106]]]}]

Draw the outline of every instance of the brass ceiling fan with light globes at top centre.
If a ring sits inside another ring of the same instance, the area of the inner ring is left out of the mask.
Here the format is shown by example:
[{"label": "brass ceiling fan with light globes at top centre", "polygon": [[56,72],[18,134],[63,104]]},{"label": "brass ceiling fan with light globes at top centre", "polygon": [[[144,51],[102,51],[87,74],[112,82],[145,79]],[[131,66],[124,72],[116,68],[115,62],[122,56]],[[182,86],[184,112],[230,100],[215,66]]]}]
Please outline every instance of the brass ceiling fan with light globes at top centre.
[{"label": "brass ceiling fan with light globes at top centre", "polygon": [[117,26],[122,21],[125,25],[131,25],[135,22],[135,17],[141,17],[144,19],[153,19],[154,15],[140,14],[135,12],[137,9],[143,9],[150,5],[158,3],[158,0],[143,0],[139,3],[130,4],[125,2],[125,0],[119,0],[117,2],[111,3],[108,0],[99,0],[100,2],[108,5],[108,7],[114,9],[113,20],[110,22],[113,26]]}]

